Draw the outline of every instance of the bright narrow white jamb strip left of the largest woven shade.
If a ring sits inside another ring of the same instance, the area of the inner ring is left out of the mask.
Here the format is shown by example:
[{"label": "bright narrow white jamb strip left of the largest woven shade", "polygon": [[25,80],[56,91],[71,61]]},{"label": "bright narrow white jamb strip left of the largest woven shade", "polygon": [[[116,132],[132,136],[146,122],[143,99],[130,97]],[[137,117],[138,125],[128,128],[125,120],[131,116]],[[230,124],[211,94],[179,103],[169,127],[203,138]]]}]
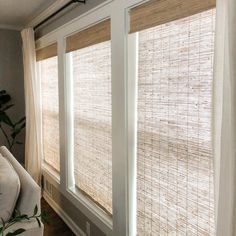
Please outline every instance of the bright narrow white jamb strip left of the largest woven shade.
[{"label": "bright narrow white jamb strip left of the largest woven shade", "polygon": [[129,235],[136,235],[138,33],[128,36],[128,186]]}]

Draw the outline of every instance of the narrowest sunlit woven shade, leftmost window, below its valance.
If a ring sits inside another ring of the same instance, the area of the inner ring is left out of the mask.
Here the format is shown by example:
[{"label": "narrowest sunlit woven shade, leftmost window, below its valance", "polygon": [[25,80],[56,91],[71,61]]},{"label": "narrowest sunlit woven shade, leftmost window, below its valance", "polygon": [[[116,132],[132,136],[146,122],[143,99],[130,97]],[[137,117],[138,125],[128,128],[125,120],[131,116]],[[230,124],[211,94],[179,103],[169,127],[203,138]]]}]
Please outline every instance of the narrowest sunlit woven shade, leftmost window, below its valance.
[{"label": "narrowest sunlit woven shade, leftmost window, below its valance", "polygon": [[39,61],[44,161],[59,172],[59,104],[57,56]]}]

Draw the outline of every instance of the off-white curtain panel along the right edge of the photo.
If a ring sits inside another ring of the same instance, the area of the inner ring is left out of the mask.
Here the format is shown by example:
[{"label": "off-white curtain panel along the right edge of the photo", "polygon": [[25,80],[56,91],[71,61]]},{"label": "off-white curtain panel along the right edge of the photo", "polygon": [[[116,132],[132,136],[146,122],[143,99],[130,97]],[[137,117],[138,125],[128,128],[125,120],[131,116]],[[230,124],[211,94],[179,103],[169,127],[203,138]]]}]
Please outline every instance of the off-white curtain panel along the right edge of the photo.
[{"label": "off-white curtain panel along the right edge of the photo", "polygon": [[217,0],[213,95],[216,235],[236,235],[236,0]]}]

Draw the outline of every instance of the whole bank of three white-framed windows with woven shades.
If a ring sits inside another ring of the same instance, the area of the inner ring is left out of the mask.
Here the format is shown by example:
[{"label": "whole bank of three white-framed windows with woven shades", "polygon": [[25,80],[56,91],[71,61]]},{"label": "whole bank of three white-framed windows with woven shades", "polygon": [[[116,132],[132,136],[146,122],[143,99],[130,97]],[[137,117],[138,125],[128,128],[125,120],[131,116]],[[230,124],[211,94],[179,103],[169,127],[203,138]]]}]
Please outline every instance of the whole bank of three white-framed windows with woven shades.
[{"label": "whole bank of three white-framed windows with woven shades", "polygon": [[115,0],[36,43],[44,166],[104,234],[214,235],[214,34],[215,0]]}]

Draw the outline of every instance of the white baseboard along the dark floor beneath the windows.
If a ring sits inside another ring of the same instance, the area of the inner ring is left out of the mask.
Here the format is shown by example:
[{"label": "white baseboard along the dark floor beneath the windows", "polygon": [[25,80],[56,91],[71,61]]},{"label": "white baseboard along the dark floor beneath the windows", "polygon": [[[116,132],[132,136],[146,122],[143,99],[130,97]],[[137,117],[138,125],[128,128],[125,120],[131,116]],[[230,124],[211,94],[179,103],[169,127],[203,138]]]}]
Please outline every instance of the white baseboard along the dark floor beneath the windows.
[{"label": "white baseboard along the dark floor beneath the windows", "polygon": [[81,230],[75,222],[68,216],[67,213],[47,194],[43,191],[43,198],[52,207],[52,209],[62,218],[62,220],[67,224],[67,226],[72,230],[76,236],[86,236],[83,230]]}]

